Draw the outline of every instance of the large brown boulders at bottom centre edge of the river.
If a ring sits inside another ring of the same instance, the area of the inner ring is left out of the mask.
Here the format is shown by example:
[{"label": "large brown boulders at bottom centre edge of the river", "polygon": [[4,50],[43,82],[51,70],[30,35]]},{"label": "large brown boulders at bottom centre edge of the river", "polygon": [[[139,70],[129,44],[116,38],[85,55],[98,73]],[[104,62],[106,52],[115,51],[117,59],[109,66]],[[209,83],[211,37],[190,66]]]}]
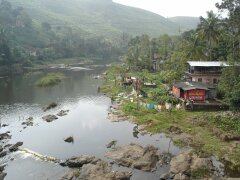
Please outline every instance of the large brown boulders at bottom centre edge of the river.
[{"label": "large brown boulders at bottom centre edge of the river", "polygon": [[[112,142],[115,143],[115,141],[111,141],[110,146],[112,146]],[[124,167],[148,172],[156,170],[156,164],[161,157],[157,148],[150,145],[142,147],[133,143],[126,146],[114,147],[105,156],[113,160],[110,164],[116,163]],[[113,171],[111,165],[95,156],[82,155],[72,157],[61,162],[60,165],[75,169],[62,177],[62,180],[129,180],[132,176],[131,171]],[[79,172],[76,172],[76,168],[78,168]]]}]

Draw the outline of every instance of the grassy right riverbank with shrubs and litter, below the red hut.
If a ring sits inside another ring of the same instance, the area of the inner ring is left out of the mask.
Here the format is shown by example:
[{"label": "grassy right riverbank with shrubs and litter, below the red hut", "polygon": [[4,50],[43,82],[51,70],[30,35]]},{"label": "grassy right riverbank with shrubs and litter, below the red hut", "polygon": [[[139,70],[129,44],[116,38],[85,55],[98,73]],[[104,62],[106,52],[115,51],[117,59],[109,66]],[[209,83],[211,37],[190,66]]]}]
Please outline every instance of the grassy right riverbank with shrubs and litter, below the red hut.
[{"label": "grassy right riverbank with shrubs and litter, below the red hut", "polygon": [[[124,87],[122,85],[122,78],[120,78],[122,74],[128,77],[139,76],[141,79],[144,78],[144,82],[153,81],[157,88],[142,85],[140,91],[142,96],[136,97],[132,86]],[[121,104],[121,111],[114,111],[114,114],[119,114],[120,117],[124,114],[128,116],[130,121],[143,125],[145,130],[152,133],[170,134],[175,144],[191,146],[199,156],[215,155],[221,160],[229,161],[226,169],[231,169],[234,177],[239,174],[240,145],[234,146],[235,140],[240,138],[239,113],[214,110],[186,111],[178,109],[176,106],[167,111],[151,107],[150,104],[179,103],[167,92],[167,87],[162,83],[165,78],[159,76],[159,72],[128,71],[124,66],[112,65],[108,69],[105,79],[101,91],[108,93],[113,100]],[[145,92],[146,96],[143,95],[142,91]],[[194,172],[192,175],[193,179],[196,179],[199,174]]]}]

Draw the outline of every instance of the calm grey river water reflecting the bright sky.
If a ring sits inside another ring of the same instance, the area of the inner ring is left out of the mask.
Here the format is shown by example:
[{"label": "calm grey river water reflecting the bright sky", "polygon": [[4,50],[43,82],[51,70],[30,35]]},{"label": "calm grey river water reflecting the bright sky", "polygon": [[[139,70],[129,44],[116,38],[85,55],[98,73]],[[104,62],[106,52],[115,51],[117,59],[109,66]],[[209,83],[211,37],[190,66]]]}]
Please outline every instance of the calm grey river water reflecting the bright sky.
[{"label": "calm grey river water reflecting the bright sky", "polygon": [[[103,69],[62,72],[67,78],[59,85],[48,88],[35,85],[43,74],[0,79],[0,118],[2,124],[9,124],[2,127],[0,133],[11,131],[9,143],[22,141],[23,148],[62,160],[72,156],[94,155],[107,161],[104,157],[109,151],[106,144],[112,140],[117,140],[117,145],[131,142],[152,144],[161,152],[172,155],[184,150],[173,145],[164,134],[134,137],[134,124],[127,121],[110,122],[107,114],[111,101],[97,92],[103,80],[93,78]],[[58,106],[44,112],[42,108],[50,102],[56,102]],[[60,110],[70,111],[67,116],[51,123],[42,120],[44,115],[57,114]],[[21,123],[30,116],[34,118],[34,125],[24,129]],[[63,139],[68,136],[74,137],[74,143],[64,142]],[[66,167],[23,152],[11,153],[2,158],[0,163],[7,164],[6,180],[60,179],[69,171]],[[121,169],[118,166],[114,168]],[[160,174],[168,169],[168,166],[163,166],[152,173],[134,170],[131,179],[159,179]]]}]

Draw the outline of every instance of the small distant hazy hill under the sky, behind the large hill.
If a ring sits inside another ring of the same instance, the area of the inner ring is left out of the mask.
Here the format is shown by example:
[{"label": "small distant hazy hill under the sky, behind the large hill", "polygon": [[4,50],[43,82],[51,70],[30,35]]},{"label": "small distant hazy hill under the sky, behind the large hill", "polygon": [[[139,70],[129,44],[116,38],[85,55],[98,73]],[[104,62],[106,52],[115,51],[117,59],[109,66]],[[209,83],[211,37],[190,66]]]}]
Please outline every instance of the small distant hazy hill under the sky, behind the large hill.
[{"label": "small distant hazy hill under the sky, behind the large hill", "polygon": [[181,32],[195,29],[199,22],[199,17],[176,16],[168,18],[170,21],[179,25]]}]

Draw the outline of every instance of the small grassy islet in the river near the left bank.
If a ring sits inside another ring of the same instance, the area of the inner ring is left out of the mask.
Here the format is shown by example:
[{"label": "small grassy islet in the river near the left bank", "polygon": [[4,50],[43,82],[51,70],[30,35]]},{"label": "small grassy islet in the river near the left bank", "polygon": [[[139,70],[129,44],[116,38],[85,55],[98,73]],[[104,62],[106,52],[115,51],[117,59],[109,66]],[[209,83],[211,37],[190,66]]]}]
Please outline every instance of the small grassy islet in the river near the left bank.
[{"label": "small grassy islet in the river near the left bank", "polygon": [[66,77],[62,73],[49,73],[47,76],[37,81],[37,86],[48,87],[59,84]]}]

